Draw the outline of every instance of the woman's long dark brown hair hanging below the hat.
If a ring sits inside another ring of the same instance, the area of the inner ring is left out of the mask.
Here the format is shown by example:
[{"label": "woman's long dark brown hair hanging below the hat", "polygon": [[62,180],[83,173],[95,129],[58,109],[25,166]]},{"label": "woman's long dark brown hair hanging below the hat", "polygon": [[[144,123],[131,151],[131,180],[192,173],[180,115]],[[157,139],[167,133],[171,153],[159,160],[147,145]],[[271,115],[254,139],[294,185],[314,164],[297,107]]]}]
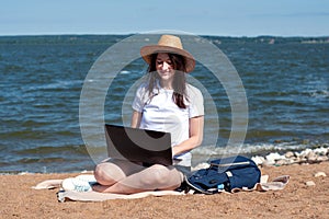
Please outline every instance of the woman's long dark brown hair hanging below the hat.
[{"label": "woman's long dark brown hair hanging below the hat", "polygon": [[[154,94],[154,88],[156,84],[157,79],[159,79],[159,74],[157,72],[156,68],[156,60],[157,60],[158,54],[152,54],[151,55],[151,61],[148,67],[148,72],[149,72],[149,83],[148,83],[148,92],[150,95],[150,99],[155,95]],[[186,108],[186,105],[184,103],[184,97],[188,100],[186,96],[186,66],[185,66],[185,59],[178,54],[170,54],[168,53],[168,56],[172,62],[173,69],[177,70],[174,76],[173,76],[173,94],[172,94],[172,100],[178,105],[180,108]]]}]

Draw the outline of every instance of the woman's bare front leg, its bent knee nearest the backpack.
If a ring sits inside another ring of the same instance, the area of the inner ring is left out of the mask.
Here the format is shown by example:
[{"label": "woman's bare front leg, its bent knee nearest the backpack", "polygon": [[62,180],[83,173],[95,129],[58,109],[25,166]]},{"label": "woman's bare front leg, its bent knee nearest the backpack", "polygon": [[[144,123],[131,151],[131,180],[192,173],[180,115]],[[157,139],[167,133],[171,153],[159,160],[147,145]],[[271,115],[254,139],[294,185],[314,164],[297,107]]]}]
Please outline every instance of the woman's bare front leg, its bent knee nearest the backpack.
[{"label": "woman's bare front leg, its bent knee nearest the backpack", "polygon": [[132,175],[122,177],[121,181],[112,185],[95,185],[93,189],[103,193],[133,194],[156,189],[174,189],[180,186],[182,181],[182,173],[173,166],[155,164]]}]

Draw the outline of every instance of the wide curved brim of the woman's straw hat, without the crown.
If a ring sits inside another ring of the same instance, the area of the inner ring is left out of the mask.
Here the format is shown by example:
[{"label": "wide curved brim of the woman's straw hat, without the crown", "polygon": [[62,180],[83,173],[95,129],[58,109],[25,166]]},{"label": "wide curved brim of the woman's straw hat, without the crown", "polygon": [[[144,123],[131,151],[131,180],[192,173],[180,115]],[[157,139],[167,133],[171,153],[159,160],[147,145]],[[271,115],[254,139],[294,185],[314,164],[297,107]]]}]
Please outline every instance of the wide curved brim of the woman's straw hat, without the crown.
[{"label": "wide curved brim of the woman's straw hat, without the crown", "polygon": [[185,59],[186,73],[193,71],[195,67],[195,59],[189,51],[184,49],[161,45],[148,45],[140,48],[140,55],[148,65],[150,65],[151,62],[151,55],[158,53],[170,53],[181,55]]}]

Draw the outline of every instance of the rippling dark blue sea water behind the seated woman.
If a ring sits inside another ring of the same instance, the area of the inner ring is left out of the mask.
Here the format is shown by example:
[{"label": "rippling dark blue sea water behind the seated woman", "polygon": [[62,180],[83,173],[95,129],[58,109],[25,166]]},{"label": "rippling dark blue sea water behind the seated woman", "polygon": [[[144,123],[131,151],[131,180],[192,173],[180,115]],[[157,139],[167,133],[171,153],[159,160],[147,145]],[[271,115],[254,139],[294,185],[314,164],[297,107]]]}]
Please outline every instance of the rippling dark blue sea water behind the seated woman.
[{"label": "rippling dark blue sea water behind the seated woman", "polygon": [[[1,174],[81,172],[106,158],[104,132],[84,137],[89,129],[83,129],[81,112],[84,118],[94,114],[81,108],[82,90],[99,87],[88,78],[91,69],[109,48],[131,36],[0,36]],[[188,79],[205,93],[205,135],[193,150],[193,165],[237,153],[329,147],[329,37],[198,37],[227,57],[247,102],[236,131],[235,95],[196,61]],[[128,55],[129,47],[122,53]],[[103,117],[95,123],[100,127],[91,131],[102,130],[104,123],[128,124],[131,88],[145,77],[146,65],[140,57],[123,65],[111,74],[99,107]]]}]

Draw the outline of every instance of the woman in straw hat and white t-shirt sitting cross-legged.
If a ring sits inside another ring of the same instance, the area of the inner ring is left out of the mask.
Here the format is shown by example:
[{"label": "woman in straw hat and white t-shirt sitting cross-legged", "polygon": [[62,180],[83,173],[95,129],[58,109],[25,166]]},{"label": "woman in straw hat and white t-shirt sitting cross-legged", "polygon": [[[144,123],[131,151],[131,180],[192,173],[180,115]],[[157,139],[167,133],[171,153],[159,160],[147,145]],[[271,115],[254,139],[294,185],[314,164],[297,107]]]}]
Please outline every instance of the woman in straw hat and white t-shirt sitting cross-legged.
[{"label": "woman in straw hat and white t-shirt sitting cross-legged", "polygon": [[[191,150],[203,139],[204,107],[201,92],[185,82],[195,60],[177,36],[162,35],[158,45],[140,49],[149,65],[148,81],[133,103],[132,127],[171,132],[172,166],[110,160],[97,165],[93,191],[134,194],[175,189],[191,169]],[[86,191],[86,189],[84,189]],[[88,189],[87,189],[88,191]]]}]

